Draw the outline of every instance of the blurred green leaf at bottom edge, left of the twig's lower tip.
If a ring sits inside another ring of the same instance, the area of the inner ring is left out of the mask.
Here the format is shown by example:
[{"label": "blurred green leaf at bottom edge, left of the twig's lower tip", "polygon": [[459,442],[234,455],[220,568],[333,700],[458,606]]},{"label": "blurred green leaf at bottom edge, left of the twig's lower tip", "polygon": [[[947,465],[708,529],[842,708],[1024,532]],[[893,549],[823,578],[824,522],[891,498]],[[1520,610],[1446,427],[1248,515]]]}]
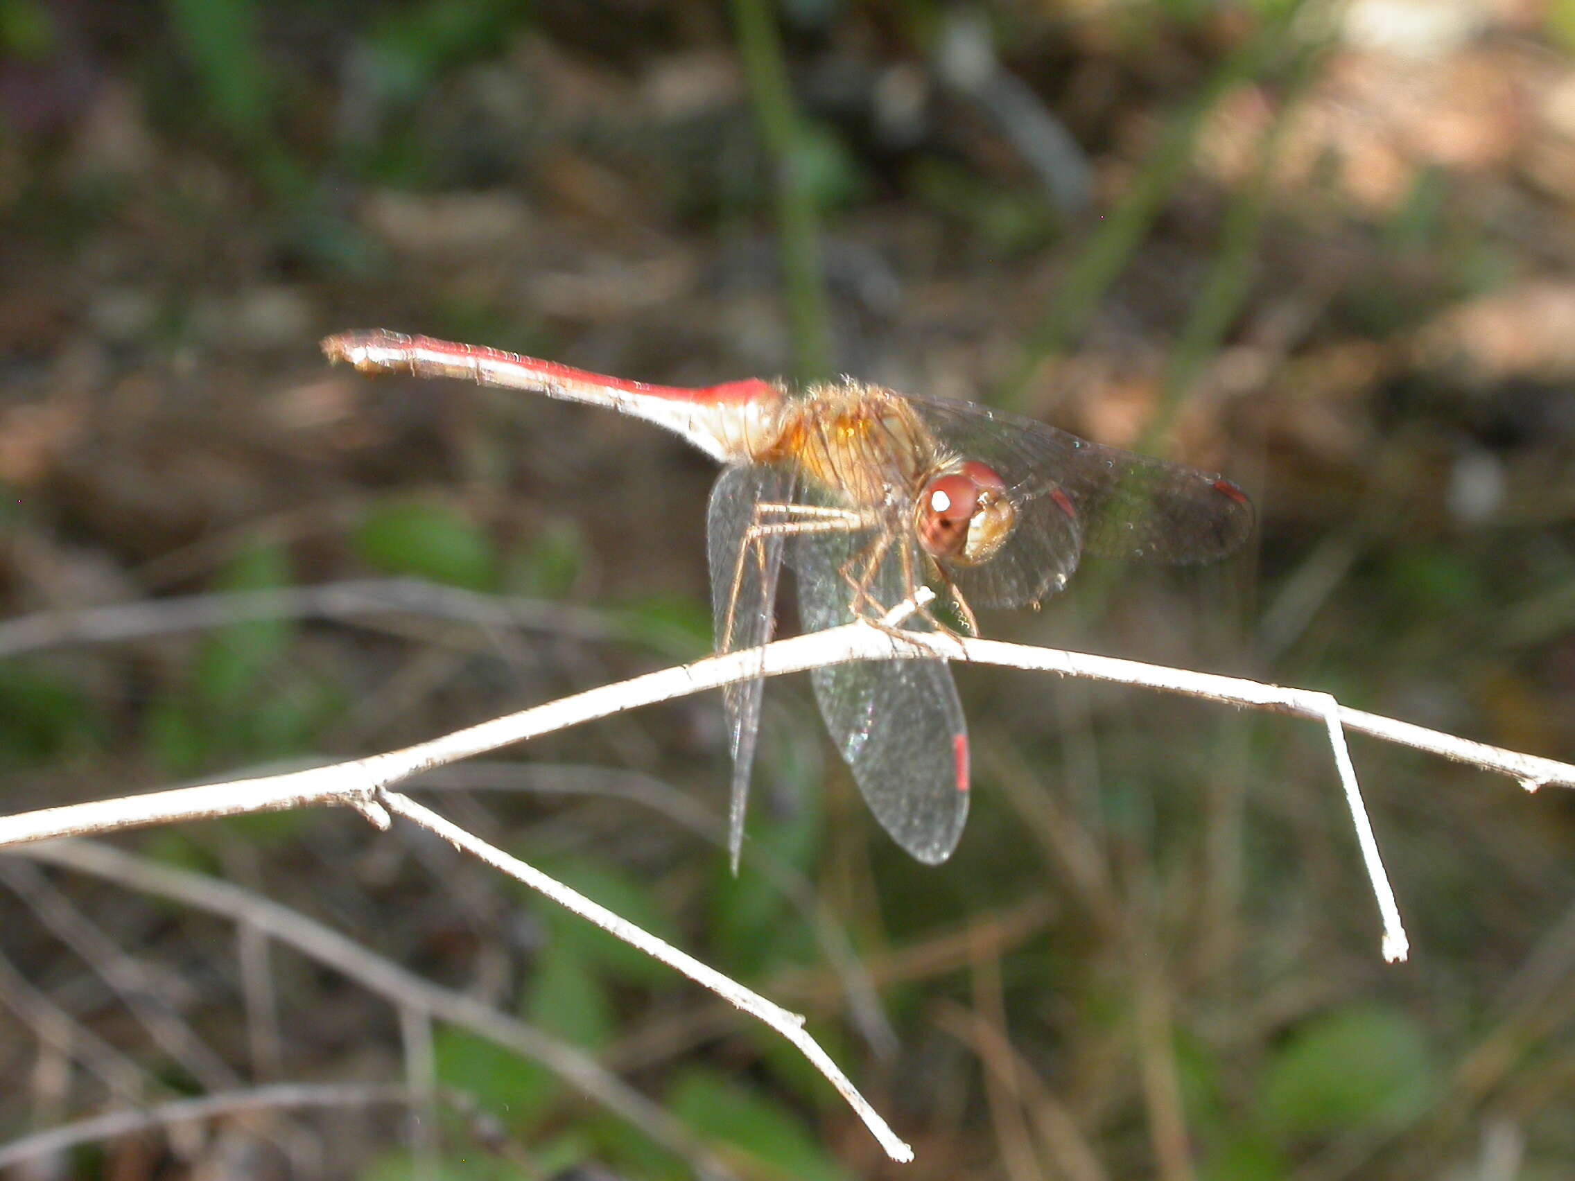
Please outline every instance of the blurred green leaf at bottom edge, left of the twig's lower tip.
[{"label": "blurred green leaf at bottom edge, left of the twig's lower tip", "polygon": [[699,1135],[731,1145],[769,1175],[794,1181],[847,1178],[792,1112],[734,1079],[687,1071],[669,1088],[668,1107]]}]

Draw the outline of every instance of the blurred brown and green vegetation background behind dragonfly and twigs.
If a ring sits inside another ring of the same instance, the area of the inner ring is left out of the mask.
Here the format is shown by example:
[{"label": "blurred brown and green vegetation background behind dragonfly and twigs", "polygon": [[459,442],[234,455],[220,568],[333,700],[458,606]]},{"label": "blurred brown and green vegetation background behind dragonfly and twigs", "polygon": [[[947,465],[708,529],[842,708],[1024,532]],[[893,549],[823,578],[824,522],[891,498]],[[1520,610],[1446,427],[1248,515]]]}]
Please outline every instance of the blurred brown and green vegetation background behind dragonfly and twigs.
[{"label": "blurred brown and green vegetation background behind dragonfly and twigs", "polygon": [[[854,373],[1225,471],[1254,553],[1088,564],[986,633],[1575,757],[1572,47],[1566,0],[0,0],[0,808],[406,745],[707,649],[702,457],[324,367],[372,326],[666,383]],[[239,598],[373,581],[402,609]],[[38,620],[161,602],[153,631]],[[586,1047],[740,1176],[1575,1173],[1567,797],[1356,740],[1389,967],[1318,727],[959,682],[975,809],[939,869],[794,679],[737,879],[715,696],[424,797],[806,1013],[906,1167],[775,1036],[446,847],[348,811],[117,844]],[[6,1140],[419,1057],[295,953],[0,864]],[[474,1033],[430,1050],[425,1142],[301,1109],[19,1175],[695,1167]]]}]

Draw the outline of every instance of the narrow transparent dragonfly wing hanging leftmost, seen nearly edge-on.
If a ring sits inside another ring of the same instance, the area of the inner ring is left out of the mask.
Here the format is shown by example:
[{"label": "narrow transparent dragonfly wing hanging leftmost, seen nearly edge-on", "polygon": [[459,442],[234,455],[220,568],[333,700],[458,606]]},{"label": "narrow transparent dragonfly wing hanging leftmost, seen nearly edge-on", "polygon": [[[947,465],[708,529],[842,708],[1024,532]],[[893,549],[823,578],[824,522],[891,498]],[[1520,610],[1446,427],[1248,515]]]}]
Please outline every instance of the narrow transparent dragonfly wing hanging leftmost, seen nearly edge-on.
[{"label": "narrow transparent dragonfly wing hanging leftmost, seen nearly edge-on", "polygon": [[[706,550],[710,559],[710,608],[717,652],[737,652],[770,641],[776,617],[776,579],[781,573],[781,534],[751,535],[756,505],[792,496],[791,471],[765,466],[726,468],[710,490],[706,510]],[[761,724],[764,676],[740,680],[721,691],[732,750],[732,792],[728,803],[728,857],[739,872],[743,816],[750,802],[750,772]]]}]

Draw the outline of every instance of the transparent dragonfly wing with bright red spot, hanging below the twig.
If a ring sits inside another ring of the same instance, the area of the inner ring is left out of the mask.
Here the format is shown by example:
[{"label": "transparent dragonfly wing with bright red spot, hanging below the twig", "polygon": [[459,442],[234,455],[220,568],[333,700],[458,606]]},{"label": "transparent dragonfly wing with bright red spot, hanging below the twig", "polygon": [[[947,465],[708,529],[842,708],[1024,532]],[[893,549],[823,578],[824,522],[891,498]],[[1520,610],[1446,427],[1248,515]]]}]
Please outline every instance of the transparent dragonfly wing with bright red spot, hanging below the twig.
[{"label": "transparent dragonfly wing with bright red spot, hanging below the twig", "polygon": [[[876,554],[871,546],[879,545],[879,531],[791,540],[805,631],[855,617],[849,579],[865,586],[871,600],[858,614],[882,614],[914,594],[923,567],[912,540],[895,532],[876,568],[866,570]],[[932,628],[921,616],[902,627]],[[969,735],[945,661],[833,665],[814,669],[811,680],[825,727],[880,827],[925,864],[951,857],[969,816]]]}]

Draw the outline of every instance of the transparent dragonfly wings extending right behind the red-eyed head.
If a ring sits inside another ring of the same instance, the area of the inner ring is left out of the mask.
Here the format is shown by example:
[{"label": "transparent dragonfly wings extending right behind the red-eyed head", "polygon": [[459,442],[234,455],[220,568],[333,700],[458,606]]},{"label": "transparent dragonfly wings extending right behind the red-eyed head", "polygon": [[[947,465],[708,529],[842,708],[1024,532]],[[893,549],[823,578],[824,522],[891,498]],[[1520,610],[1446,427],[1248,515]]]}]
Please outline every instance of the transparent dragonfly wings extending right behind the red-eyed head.
[{"label": "transparent dragonfly wings extending right behind the red-eyed head", "polygon": [[976,567],[947,565],[975,606],[1021,606],[1055,594],[1084,551],[1211,562],[1252,532],[1252,502],[1219,476],[972,402],[909,402],[948,454],[994,468],[1017,509],[999,554]]}]

